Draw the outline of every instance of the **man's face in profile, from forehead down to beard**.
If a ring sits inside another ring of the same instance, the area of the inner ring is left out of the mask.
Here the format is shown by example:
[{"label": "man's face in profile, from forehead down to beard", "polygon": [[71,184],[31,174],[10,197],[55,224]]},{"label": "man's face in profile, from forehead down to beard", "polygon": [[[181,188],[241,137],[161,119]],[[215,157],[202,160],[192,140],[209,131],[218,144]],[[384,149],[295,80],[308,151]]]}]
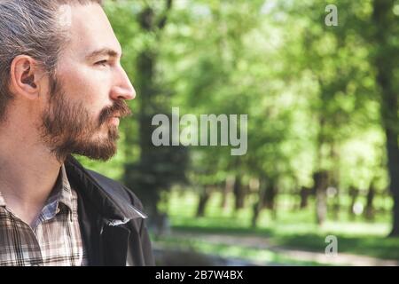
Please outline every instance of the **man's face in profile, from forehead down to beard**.
[{"label": "man's face in profile, from forehead down to beard", "polygon": [[116,153],[118,125],[130,114],[135,90],[121,67],[121,45],[98,4],[61,7],[69,42],[43,107],[43,138],[59,158],[82,154],[108,160]]}]

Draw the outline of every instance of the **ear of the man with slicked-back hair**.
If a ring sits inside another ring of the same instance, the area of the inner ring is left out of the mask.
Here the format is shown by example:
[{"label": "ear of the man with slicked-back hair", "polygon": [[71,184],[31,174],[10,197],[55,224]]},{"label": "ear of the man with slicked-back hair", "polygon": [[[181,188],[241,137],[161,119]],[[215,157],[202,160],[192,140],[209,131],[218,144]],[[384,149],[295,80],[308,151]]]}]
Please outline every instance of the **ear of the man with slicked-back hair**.
[{"label": "ear of the man with slicked-back hair", "polygon": [[12,60],[10,68],[10,91],[14,96],[37,99],[43,69],[37,61],[27,55],[19,55]]}]

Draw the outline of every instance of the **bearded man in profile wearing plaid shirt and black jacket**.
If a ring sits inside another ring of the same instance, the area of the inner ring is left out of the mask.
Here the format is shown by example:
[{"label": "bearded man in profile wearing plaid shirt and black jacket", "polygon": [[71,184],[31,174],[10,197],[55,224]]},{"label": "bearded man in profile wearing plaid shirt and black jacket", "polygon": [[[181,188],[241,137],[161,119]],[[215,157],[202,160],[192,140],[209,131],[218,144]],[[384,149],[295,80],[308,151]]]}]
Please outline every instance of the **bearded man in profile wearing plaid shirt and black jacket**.
[{"label": "bearded man in profile wearing plaid shirt and black jacket", "polygon": [[135,91],[99,1],[0,0],[0,265],[152,265],[108,160]]}]

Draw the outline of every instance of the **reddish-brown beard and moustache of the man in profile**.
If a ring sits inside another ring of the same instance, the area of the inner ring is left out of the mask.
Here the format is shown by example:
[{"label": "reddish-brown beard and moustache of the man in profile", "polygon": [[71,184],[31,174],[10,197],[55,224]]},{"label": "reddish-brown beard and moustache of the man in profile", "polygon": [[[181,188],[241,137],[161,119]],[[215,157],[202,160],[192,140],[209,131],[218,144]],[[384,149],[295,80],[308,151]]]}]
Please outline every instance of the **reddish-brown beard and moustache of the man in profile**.
[{"label": "reddish-brown beard and moustache of the man in profile", "polygon": [[[118,128],[107,122],[115,115],[131,114],[124,100],[114,101],[113,106],[104,108],[98,118],[93,118],[82,102],[66,100],[57,78],[51,79],[49,98],[48,109],[42,115],[41,133],[43,142],[59,161],[64,161],[69,154],[107,161],[116,154]],[[101,136],[104,127],[107,133]]]}]

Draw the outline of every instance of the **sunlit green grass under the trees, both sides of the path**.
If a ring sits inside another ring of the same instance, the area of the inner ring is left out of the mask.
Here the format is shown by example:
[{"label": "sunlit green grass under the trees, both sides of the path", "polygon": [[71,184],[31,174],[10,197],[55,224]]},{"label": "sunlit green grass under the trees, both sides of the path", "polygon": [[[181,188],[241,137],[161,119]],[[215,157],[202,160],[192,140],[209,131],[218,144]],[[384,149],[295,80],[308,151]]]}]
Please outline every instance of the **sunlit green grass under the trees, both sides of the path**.
[{"label": "sunlit green grass under the trees, both sides of the path", "polygon": [[[168,215],[172,229],[180,233],[255,235],[267,239],[274,245],[316,252],[325,251],[325,237],[332,234],[338,238],[339,253],[399,260],[399,238],[386,237],[390,229],[388,212],[379,214],[374,222],[364,221],[362,217],[351,220],[350,217],[342,213],[339,220],[333,221],[330,217],[320,227],[315,223],[312,204],[309,204],[309,209],[295,210],[293,202],[283,198],[278,202],[278,214],[275,219],[268,210],[263,210],[258,226],[252,228],[250,206],[234,212],[231,206],[232,197],[229,196],[228,207],[222,209],[219,206],[221,197],[221,194],[214,193],[207,204],[205,217],[195,217],[198,202],[196,194],[191,192],[171,193],[168,201]],[[248,205],[250,202],[248,200]],[[158,241],[168,244],[168,246],[186,246],[200,252],[213,252],[220,256],[263,259],[278,263],[293,262],[293,260],[285,259],[284,256],[267,250],[245,248],[239,245],[209,244],[200,240],[174,240],[173,238]]]}]

